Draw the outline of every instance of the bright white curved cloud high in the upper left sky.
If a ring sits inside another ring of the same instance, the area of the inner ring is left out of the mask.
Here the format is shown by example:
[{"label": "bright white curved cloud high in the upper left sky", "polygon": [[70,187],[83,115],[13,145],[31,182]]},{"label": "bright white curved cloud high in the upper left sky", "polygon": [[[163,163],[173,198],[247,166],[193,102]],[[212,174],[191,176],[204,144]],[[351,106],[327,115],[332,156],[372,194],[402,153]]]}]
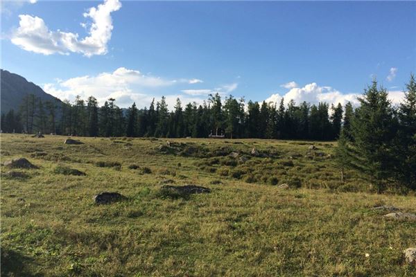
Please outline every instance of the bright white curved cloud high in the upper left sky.
[{"label": "bright white curved cloud high in the upper left sky", "polygon": [[[89,35],[78,39],[78,33],[52,31],[40,17],[19,15],[19,28],[12,34],[12,43],[26,51],[51,55],[54,53],[82,53],[87,57],[107,53],[112,35],[111,12],[119,10],[119,0],[104,0],[98,7],[89,8],[83,16],[92,20]],[[86,26],[84,24],[84,26]]]}]

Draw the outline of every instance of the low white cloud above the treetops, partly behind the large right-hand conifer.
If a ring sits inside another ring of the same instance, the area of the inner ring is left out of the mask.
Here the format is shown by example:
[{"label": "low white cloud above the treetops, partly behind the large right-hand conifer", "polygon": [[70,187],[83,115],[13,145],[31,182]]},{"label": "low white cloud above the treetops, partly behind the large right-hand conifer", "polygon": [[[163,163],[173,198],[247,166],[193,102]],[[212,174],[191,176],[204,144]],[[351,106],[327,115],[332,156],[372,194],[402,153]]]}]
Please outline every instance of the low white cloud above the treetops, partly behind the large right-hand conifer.
[{"label": "low white cloud above the treetops, partly behind the large right-hand conifer", "polygon": [[[388,93],[388,97],[393,105],[399,104],[404,98],[403,91],[388,91]],[[334,105],[337,105],[338,103],[345,105],[347,102],[352,102],[353,105],[358,105],[359,101],[357,98],[361,95],[362,93],[342,93],[332,87],[321,87],[317,83],[312,82],[311,84],[306,84],[304,87],[289,89],[289,91],[282,95],[279,93],[272,94],[266,99],[266,102],[279,105],[281,98],[284,98],[285,105],[287,105],[290,100],[295,100],[297,104],[306,101],[311,104],[327,102]]]}]

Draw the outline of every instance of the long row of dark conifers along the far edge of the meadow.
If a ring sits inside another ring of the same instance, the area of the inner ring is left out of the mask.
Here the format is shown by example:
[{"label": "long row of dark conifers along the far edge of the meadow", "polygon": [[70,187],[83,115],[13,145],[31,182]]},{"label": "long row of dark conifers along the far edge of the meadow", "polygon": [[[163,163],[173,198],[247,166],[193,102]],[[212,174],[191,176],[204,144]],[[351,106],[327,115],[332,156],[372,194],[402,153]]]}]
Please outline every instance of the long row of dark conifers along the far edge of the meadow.
[{"label": "long row of dark conifers along the far edge of the meadow", "polygon": [[251,100],[245,103],[244,98],[237,100],[233,96],[223,100],[218,93],[200,105],[191,102],[184,107],[177,98],[172,111],[164,96],[157,102],[153,99],[144,109],[137,109],[135,103],[121,109],[115,102],[110,98],[99,107],[93,96],[86,101],[77,96],[73,102],[44,102],[27,94],[19,111],[1,114],[1,129],[76,136],[206,138],[209,134],[223,134],[232,139],[324,141],[338,138],[342,121],[348,121],[353,110],[351,103],[345,107],[340,104],[330,107],[325,102],[296,105],[293,100],[284,105],[284,99],[279,105]]}]

